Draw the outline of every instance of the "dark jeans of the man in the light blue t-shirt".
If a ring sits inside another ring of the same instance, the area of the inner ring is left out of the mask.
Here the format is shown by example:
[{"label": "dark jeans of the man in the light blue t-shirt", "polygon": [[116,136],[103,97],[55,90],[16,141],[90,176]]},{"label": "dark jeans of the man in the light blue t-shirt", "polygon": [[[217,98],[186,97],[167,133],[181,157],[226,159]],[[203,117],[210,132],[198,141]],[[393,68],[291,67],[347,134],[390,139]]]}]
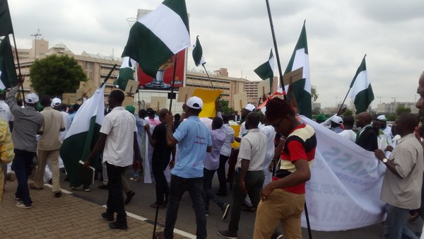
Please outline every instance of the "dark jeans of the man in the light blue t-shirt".
[{"label": "dark jeans of the man in the light blue t-shirt", "polygon": [[165,230],[163,231],[167,239],[174,238],[174,227],[177,221],[179,201],[181,201],[182,194],[186,191],[189,192],[192,198],[192,206],[194,214],[196,214],[196,238],[204,239],[207,236],[202,178],[184,178],[171,175],[170,202],[167,205]]}]

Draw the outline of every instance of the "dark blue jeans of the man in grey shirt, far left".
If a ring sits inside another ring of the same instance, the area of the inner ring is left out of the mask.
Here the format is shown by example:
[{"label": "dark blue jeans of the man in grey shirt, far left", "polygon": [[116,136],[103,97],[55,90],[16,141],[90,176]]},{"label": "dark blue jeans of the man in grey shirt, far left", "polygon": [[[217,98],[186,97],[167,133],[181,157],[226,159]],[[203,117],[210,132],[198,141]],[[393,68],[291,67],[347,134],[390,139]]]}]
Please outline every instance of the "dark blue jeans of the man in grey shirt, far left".
[{"label": "dark blue jeans of the man in grey shirt, far left", "polygon": [[13,151],[15,152],[15,158],[13,158],[11,169],[15,171],[16,179],[18,180],[15,197],[22,199],[25,206],[31,206],[33,200],[31,200],[30,190],[28,190],[28,176],[31,175],[31,171],[33,170],[35,152],[17,148]]}]

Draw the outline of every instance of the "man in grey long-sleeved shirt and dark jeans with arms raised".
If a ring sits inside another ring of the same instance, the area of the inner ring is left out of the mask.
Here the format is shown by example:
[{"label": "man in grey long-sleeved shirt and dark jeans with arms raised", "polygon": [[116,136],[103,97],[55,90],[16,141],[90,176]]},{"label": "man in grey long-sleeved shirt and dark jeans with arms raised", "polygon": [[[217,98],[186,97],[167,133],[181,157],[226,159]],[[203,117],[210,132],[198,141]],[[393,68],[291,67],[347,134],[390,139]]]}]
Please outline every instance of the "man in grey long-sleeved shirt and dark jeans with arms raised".
[{"label": "man in grey long-sleeved shirt and dark jeans with arms raised", "polygon": [[30,209],[33,201],[28,190],[28,175],[33,170],[33,158],[35,151],[37,151],[35,136],[44,121],[44,117],[35,110],[35,103],[38,102],[38,95],[35,93],[25,95],[26,106],[24,108],[16,103],[15,95],[22,83],[23,80],[20,79],[18,85],[12,88],[6,97],[6,103],[15,117],[12,132],[15,158],[12,161],[12,170],[15,171],[18,179],[18,187],[15,193],[15,198],[18,201],[16,206],[22,209]]}]

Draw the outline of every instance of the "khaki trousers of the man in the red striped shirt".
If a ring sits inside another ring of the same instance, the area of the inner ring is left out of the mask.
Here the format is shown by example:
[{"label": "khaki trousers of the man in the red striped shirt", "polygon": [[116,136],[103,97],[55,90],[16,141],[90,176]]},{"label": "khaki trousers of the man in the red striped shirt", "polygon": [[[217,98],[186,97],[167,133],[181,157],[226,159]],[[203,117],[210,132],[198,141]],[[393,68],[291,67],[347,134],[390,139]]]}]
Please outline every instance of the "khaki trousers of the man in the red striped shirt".
[{"label": "khaki trousers of the man in the red striped shirt", "polygon": [[271,238],[280,222],[285,239],[302,239],[300,218],[304,207],[305,194],[295,194],[281,189],[273,190],[265,202],[259,202],[253,238]]}]

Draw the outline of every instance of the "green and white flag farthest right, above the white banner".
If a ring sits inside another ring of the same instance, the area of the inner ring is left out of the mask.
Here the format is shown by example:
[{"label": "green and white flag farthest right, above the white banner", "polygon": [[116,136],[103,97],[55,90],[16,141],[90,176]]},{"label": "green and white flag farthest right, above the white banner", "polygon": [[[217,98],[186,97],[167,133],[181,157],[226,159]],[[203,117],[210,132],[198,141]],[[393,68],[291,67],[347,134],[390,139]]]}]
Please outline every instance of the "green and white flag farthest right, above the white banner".
[{"label": "green and white flag farthest right, above the white banner", "polygon": [[374,93],[372,92],[371,82],[367,74],[365,57],[360,63],[355,77],[353,77],[351,83],[351,98],[354,100],[356,114],[366,111],[368,105],[374,100]]}]

